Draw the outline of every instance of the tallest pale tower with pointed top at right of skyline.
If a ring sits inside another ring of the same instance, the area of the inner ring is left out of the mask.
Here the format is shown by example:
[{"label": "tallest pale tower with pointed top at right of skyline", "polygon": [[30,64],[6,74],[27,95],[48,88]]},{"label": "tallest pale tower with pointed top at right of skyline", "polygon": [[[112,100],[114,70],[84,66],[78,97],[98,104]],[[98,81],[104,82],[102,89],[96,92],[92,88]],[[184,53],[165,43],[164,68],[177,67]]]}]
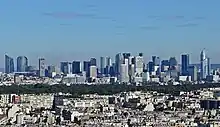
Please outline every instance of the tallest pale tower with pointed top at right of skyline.
[{"label": "tallest pale tower with pointed top at right of skyline", "polygon": [[208,59],[206,58],[205,50],[202,50],[200,54],[200,63],[201,63],[201,71],[200,71],[200,78],[205,79],[208,75]]}]

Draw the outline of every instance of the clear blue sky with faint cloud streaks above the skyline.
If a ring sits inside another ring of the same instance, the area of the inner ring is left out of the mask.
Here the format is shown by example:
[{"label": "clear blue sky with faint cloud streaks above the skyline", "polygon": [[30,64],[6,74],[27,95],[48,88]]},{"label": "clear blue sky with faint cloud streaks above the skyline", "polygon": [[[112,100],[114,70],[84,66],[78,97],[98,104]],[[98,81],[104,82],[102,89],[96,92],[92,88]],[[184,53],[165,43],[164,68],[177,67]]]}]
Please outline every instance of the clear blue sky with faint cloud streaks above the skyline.
[{"label": "clear blue sky with faint cloud streaks above the skyline", "polygon": [[[203,48],[220,63],[219,0],[1,0],[0,61],[35,63],[143,52],[167,59]],[[178,58],[179,59],[179,58]],[[4,62],[0,63],[3,66]]]}]

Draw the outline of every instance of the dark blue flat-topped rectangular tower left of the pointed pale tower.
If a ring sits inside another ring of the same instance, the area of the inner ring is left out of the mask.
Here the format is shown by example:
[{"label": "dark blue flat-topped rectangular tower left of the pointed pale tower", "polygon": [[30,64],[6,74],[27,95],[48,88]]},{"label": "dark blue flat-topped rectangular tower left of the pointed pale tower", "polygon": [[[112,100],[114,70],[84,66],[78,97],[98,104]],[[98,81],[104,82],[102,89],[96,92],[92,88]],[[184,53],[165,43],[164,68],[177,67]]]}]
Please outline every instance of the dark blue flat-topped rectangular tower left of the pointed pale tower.
[{"label": "dark blue flat-topped rectangular tower left of the pointed pale tower", "polygon": [[189,54],[184,54],[181,57],[181,70],[183,76],[188,76],[188,68],[189,68]]}]

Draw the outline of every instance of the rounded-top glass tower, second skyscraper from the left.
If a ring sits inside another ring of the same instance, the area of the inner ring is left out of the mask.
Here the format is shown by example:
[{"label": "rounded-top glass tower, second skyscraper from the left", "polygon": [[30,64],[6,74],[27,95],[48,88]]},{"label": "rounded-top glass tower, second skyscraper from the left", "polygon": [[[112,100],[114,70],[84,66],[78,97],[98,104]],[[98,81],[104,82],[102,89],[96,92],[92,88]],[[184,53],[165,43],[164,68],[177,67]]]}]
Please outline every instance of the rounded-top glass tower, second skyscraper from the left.
[{"label": "rounded-top glass tower, second skyscraper from the left", "polygon": [[17,58],[17,72],[26,72],[28,67],[28,59],[26,56]]}]

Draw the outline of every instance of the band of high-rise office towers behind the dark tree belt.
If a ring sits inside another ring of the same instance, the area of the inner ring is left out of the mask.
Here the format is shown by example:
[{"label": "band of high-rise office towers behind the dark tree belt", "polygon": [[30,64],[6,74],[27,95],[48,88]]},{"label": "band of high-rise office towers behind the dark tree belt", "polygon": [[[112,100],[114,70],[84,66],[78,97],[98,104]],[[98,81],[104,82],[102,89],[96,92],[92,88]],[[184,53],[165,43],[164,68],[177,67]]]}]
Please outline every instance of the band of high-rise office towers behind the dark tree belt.
[{"label": "band of high-rise office towers behind the dark tree belt", "polygon": [[[98,64],[100,63],[100,64]],[[87,61],[63,61],[60,67],[46,64],[45,58],[40,58],[38,67],[28,65],[25,56],[17,58],[17,70],[14,69],[13,58],[5,55],[5,73],[16,75],[37,76],[40,78],[61,78],[65,84],[84,83],[161,83],[180,84],[181,82],[218,82],[219,70],[211,68],[210,58],[205,50],[200,54],[200,66],[191,64],[190,55],[182,54],[178,63],[175,57],[161,60],[152,56],[149,62],[144,61],[143,53],[133,56],[131,53],[118,53],[114,62],[111,57],[100,57]]]}]

